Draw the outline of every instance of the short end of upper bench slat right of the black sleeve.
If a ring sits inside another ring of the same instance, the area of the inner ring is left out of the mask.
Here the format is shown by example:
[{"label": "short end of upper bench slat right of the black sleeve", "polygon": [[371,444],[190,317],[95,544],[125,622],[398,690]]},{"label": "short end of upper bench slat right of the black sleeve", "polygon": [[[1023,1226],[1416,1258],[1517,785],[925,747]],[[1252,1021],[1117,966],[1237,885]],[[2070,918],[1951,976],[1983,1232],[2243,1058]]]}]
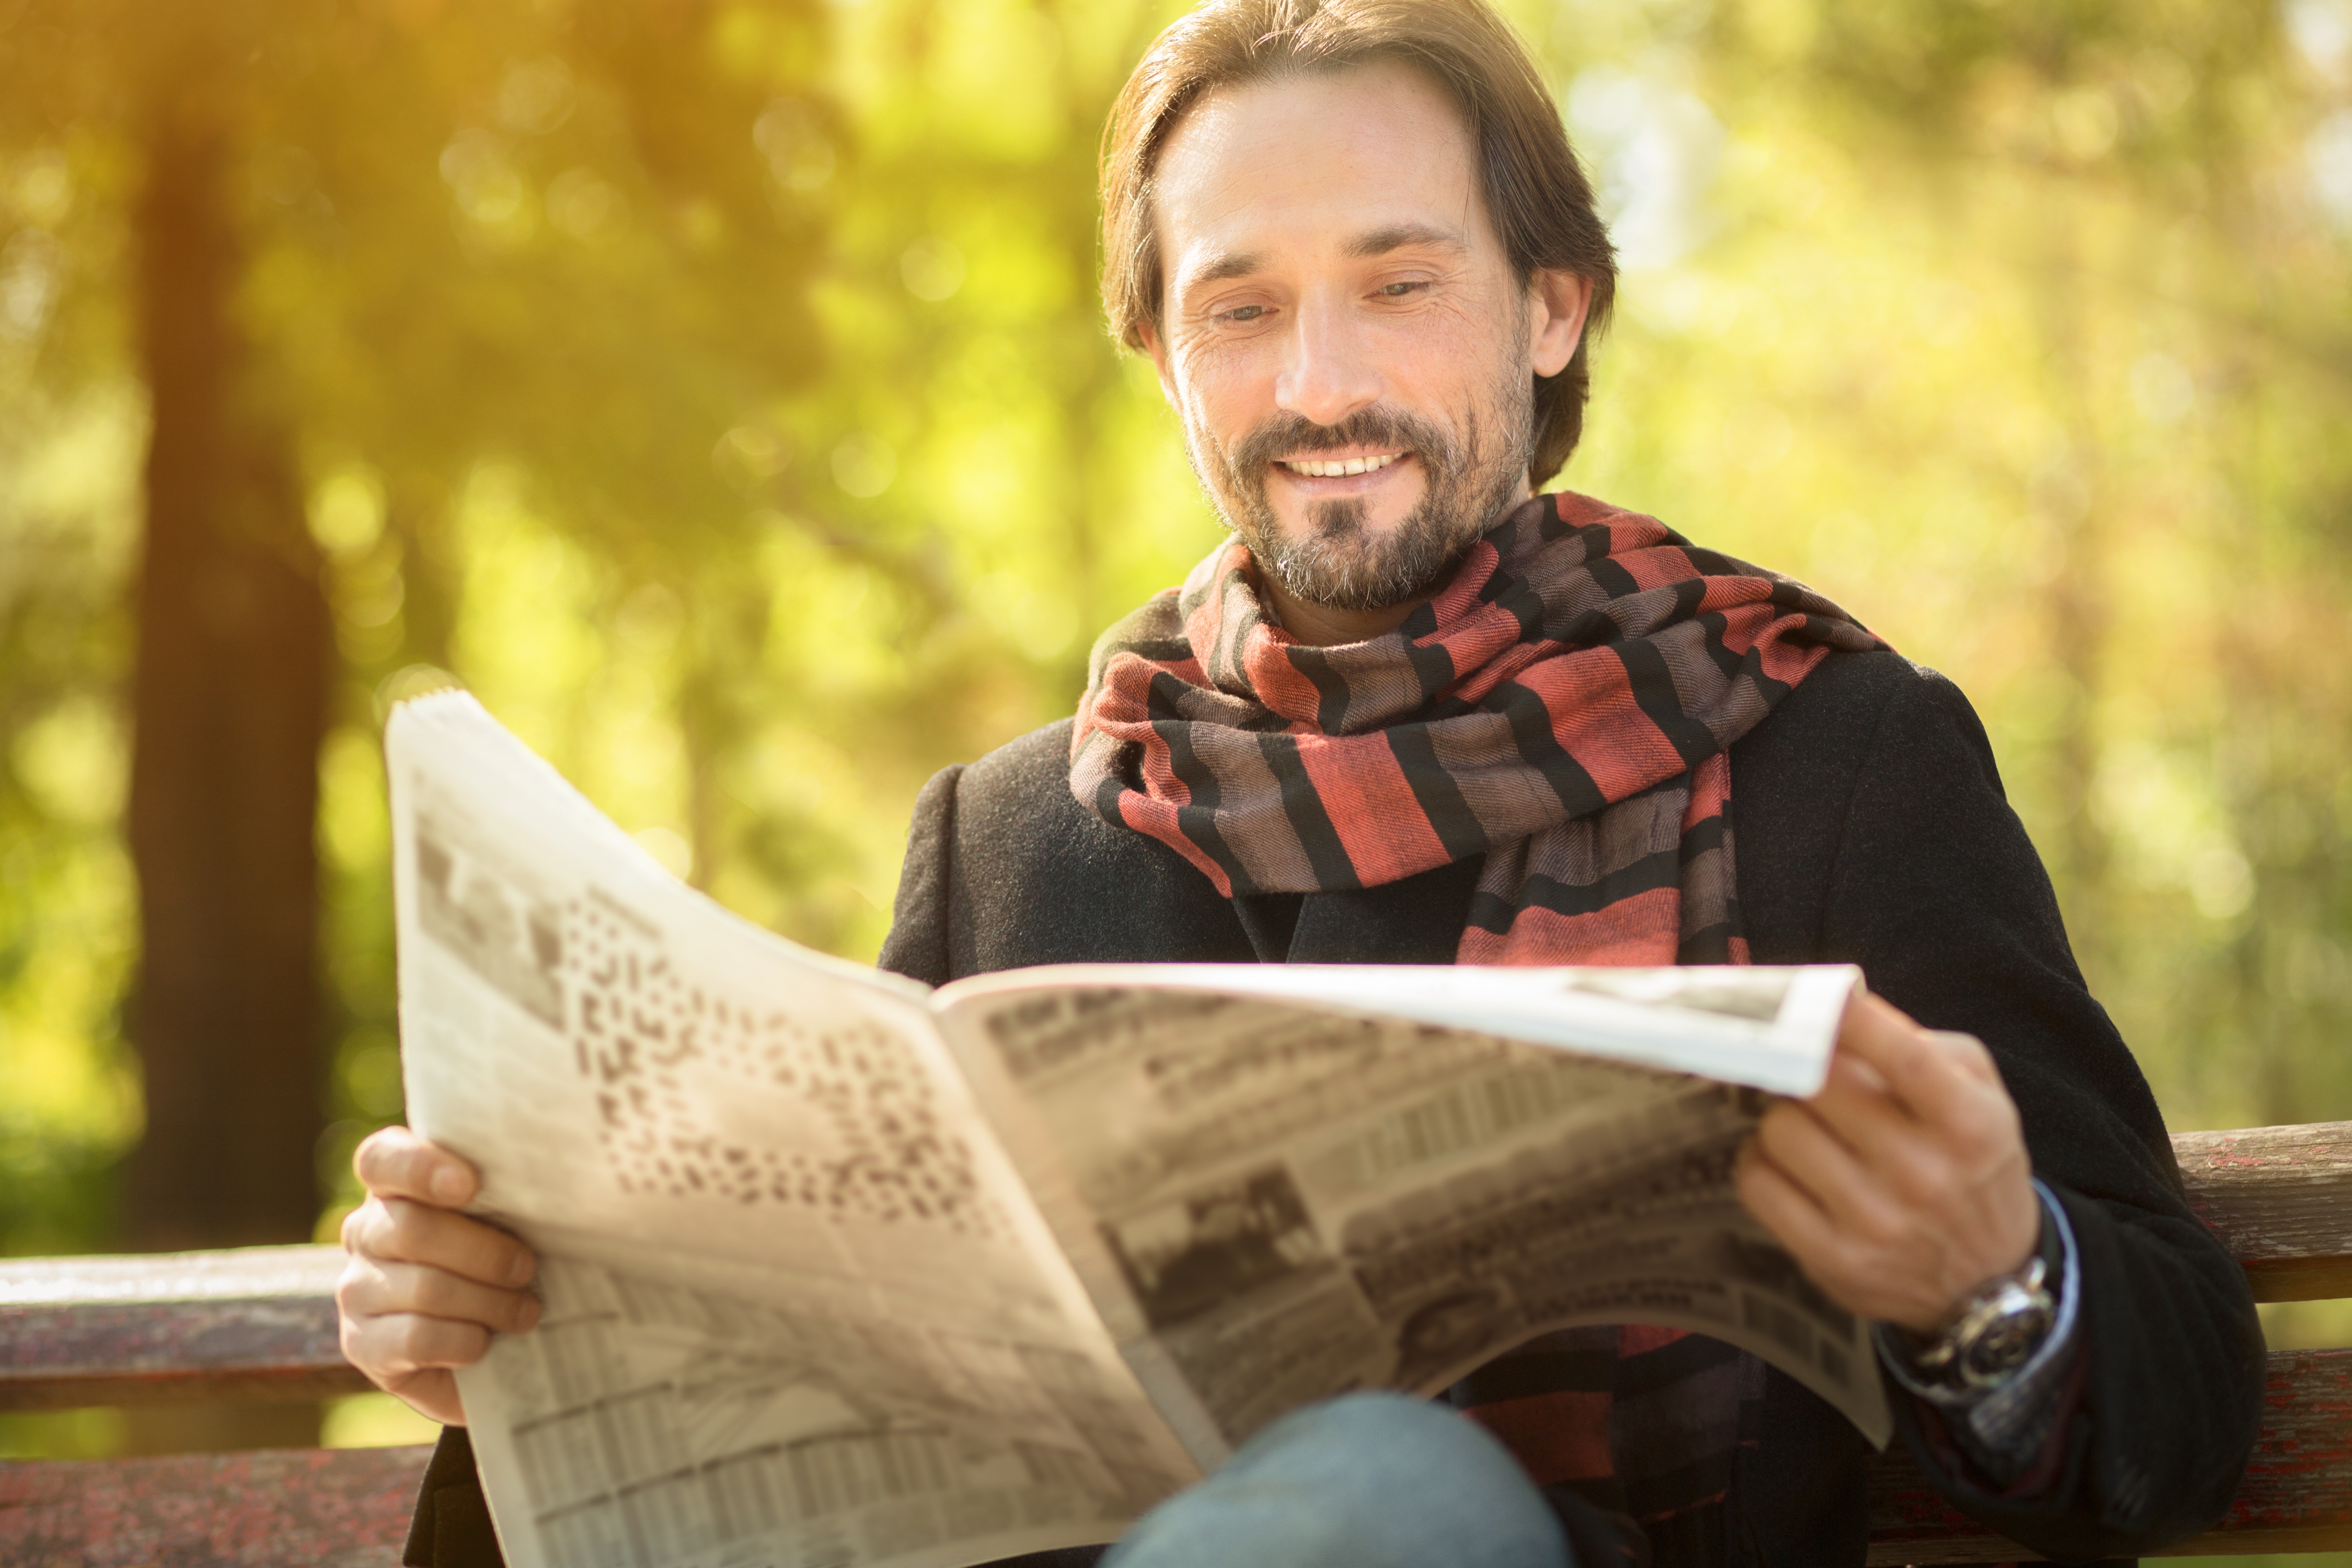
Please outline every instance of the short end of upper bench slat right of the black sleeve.
[{"label": "short end of upper bench slat right of the black sleeve", "polygon": [[2173,1154],[2256,1300],[2352,1295],[2352,1121],[2176,1133]]}]

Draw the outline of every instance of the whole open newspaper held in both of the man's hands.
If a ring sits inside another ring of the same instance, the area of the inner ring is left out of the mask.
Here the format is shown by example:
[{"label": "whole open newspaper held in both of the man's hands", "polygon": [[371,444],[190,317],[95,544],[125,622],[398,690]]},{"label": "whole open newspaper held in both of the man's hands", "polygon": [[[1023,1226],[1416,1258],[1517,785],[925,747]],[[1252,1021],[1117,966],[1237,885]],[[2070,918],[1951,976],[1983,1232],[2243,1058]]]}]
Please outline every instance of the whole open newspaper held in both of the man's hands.
[{"label": "whole open newspaper held in both of the man's hands", "polygon": [[409,1121],[546,1314],[459,1373],[515,1568],[1115,1540],[1279,1413],[1696,1328],[1875,1443],[1740,1208],[1851,969],[1068,966],[938,992],[675,882],[473,698],[395,710]]}]

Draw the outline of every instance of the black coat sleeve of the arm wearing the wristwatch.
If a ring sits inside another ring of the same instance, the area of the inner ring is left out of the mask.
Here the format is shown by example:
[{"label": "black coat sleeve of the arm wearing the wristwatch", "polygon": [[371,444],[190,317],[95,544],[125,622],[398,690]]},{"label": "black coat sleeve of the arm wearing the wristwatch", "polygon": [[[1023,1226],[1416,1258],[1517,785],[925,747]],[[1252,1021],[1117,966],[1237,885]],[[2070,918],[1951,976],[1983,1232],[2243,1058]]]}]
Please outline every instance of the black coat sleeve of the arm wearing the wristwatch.
[{"label": "black coat sleeve of the arm wearing the wristwatch", "polygon": [[2060,1559],[2133,1556],[2213,1526],[2260,1425],[2246,1279],[2190,1213],[2164,1117],[2067,947],[2058,900],[1957,686],[1893,686],[1851,776],[1820,957],[1999,1063],[2082,1265],[2082,1403],[2056,1479],[1994,1495],[1905,1441],[1962,1509]]}]

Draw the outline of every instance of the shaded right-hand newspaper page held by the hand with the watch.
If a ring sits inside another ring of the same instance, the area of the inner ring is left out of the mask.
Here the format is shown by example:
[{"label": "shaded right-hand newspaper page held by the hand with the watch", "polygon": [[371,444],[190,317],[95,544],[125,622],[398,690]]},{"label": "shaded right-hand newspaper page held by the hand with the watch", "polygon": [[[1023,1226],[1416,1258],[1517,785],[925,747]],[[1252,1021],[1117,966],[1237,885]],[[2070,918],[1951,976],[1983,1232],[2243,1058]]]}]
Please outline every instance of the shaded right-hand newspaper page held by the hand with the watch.
[{"label": "shaded right-hand newspaper page held by the hand with the watch", "polygon": [[1820,1084],[1858,971],[1421,973],[1082,966],[938,992],[1192,1455],[1345,1389],[1432,1394],[1581,1324],[1729,1340],[1884,1446],[1867,1324],[1731,1180],[1764,1091]]}]

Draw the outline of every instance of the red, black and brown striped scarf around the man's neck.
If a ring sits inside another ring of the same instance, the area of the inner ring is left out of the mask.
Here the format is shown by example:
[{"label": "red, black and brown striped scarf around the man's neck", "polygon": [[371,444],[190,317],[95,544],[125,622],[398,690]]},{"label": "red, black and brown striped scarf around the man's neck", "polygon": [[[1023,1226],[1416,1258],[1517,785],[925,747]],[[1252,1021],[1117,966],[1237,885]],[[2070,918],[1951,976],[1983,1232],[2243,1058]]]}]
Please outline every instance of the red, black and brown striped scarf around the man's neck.
[{"label": "red, black and brown striped scarf around the man's neck", "polygon": [[[1284,635],[1223,543],[1094,646],[1070,790],[1228,898],[1482,856],[1458,964],[1745,964],[1726,752],[1832,651],[1875,646],[1802,583],[1569,491],[1345,646]],[[1762,1373],[1672,1328],[1578,1328],[1449,1399],[1538,1486],[1639,1521],[1656,1563],[1703,1563]]]}]

